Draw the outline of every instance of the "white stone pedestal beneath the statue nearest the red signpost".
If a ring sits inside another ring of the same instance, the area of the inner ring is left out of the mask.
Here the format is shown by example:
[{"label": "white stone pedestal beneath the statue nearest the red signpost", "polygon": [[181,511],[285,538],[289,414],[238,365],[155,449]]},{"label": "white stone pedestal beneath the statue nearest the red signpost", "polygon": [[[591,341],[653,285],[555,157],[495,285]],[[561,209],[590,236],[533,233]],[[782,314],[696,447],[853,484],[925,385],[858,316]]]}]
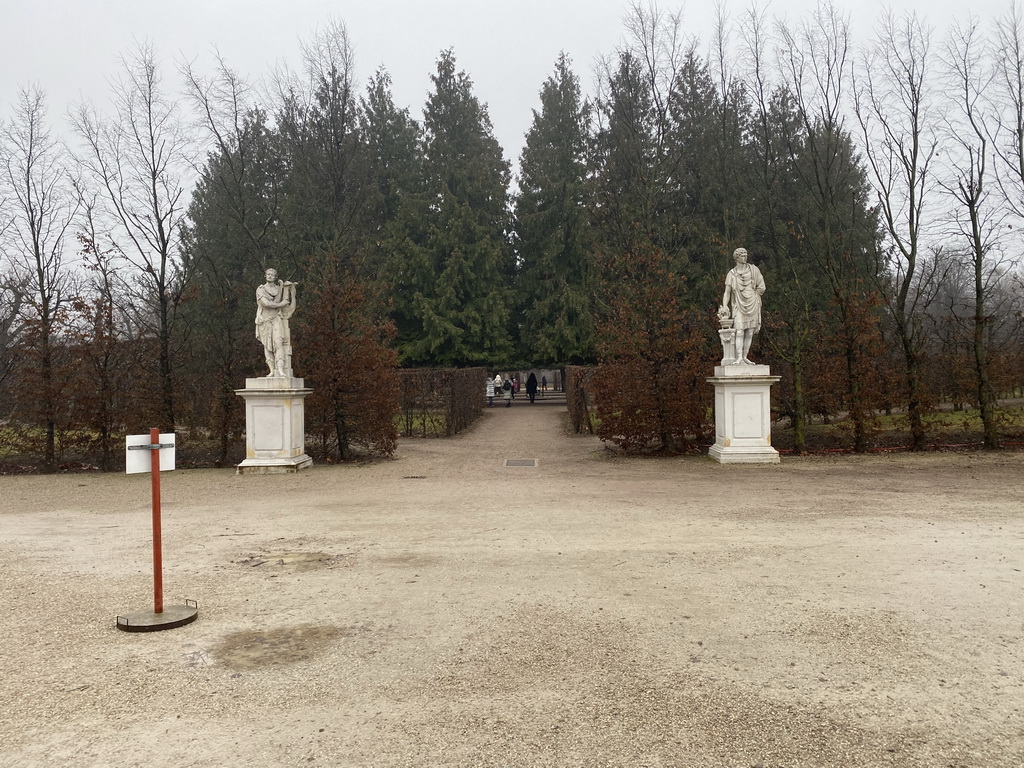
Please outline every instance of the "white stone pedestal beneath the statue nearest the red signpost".
[{"label": "white stone pedestal beneath the statue nearest the red signpost", "polygon": [[239,474],[298,472],[312,465],[306,456],[305,407],[311,389],[291,376],[246,379],[234,393],[246,400],[246,460]]}]

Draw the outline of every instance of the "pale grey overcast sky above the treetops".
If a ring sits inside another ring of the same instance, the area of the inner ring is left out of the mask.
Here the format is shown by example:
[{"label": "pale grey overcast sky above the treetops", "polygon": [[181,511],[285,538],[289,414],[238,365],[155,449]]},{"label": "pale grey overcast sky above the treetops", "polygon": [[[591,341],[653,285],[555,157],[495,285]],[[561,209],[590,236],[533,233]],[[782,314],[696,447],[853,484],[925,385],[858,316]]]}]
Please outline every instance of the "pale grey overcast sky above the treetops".
[{"label": "pale grey overcast sky above the treetops", "polygon": [[[644,3],[646,5],[646,3]],[[851,12],[855,41],[866,38],[883,7],[915,10],[944,30],[967,8],[986,20],[1004,13],[1010,0],[894,0],[883,4],[838,2]],[[317,26],[343,22],[355,48],[360,88],[384,66],[399,106],[420,118],[438,53],[455,51],[474,93],[488,105],[495,135],[518,169],[523,134],[539,92],[560,51],[571,56],[585,92],[593,89],[593,66],[614,51],[624,34],[629,0],[8,0],[0,13],[0,117],[10,115],[19,86],[35,84],[48,97],[50,117],[62,126],[71,102],[94,101],[104,110],[108,78],[118,57],[135,41],[154,44],[169,85],[179,82],[177,62],[196,59],[203,71],[220,51],[229,67],[257,80],[275,63],[301,68],[299,40]],[[761,3],[764,5],[764,3]],[[775,0],[776,15],[798,16],[813,0]],[[714,2],[660,2],[683,9],[687,33],[707,41]],[[749,3],[731,2],[732,15]]]}]

